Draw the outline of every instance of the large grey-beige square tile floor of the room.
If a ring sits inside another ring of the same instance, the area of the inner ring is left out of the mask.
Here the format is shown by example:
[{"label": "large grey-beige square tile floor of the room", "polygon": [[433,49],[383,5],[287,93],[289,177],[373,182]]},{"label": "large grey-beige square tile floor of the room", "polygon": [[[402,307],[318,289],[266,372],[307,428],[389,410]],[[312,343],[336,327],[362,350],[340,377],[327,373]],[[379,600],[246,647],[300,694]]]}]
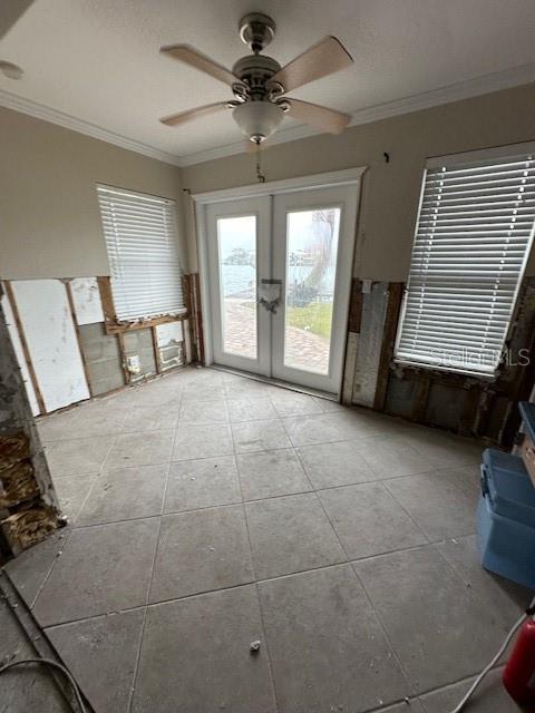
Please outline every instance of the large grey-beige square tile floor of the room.
[{"label": "large grey-beige square tile floor of the room", "polygon": [[447,713],[528,602],[479,443],[196,369],[39,431],[70,525],[7,572],[96,713]]}]

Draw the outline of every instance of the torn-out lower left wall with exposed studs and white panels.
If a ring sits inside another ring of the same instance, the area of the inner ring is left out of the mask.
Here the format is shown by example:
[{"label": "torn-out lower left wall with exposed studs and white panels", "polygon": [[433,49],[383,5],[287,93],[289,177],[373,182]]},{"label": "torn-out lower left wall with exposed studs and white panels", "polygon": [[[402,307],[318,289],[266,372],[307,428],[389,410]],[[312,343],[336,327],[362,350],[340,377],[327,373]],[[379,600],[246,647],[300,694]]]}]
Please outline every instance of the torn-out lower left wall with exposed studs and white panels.
[{"label": "torn-out lower left wall with exposed studs and white panels", "polygon": [[2,306],[33,416],[192,361],[187,319],[164,316],[145,326],[105,318],[109,279],[6,281],[3,286]]}]

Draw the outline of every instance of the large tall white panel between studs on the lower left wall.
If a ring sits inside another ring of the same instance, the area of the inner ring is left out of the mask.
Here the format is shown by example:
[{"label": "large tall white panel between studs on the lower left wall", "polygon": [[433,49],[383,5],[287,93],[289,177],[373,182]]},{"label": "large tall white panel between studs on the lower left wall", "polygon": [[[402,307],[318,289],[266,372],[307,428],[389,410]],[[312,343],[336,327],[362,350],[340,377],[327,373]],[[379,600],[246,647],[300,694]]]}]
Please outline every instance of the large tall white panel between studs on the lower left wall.
[{"label": "large tall white panel between studs on the lower left wall", "polygon": [[47,411],[88,399],[64,283],[26,280],[12,287]]}]

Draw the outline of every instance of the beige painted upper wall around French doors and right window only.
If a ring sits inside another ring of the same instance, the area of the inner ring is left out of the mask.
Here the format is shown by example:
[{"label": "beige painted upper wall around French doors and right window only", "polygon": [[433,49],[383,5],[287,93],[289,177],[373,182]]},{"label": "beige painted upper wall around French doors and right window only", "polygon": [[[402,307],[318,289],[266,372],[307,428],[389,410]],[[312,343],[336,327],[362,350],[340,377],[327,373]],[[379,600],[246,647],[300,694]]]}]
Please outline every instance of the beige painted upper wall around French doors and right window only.
[{"label": "beige painted upper wall around French doors and right window only", "polygon": [[[356,273],[405,281],[426,158],[534,139],[535,87],[528,85],[357,126],[340,136],[273,146],[262,162],[268,180],[368,166]],[[389,164],[383,152],[390,154]],[[242,154],[191,166],[183,169],[183,180],[193,193],[252,184],[254,157]],[[534,257],[529,274],[535,274]]]}]

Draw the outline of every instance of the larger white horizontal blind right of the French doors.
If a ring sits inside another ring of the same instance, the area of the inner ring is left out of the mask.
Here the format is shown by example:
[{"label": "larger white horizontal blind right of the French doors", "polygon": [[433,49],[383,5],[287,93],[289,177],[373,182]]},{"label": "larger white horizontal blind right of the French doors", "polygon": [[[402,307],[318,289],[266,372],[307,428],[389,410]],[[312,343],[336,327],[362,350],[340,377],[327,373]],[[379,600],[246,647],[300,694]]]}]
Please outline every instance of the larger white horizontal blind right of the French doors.
[{"label": "larger white horizontal blind right of the French doors", "polygon": [[440,162],[424,175],[395,359],[492,375],[533,241],[534,155]]}]

